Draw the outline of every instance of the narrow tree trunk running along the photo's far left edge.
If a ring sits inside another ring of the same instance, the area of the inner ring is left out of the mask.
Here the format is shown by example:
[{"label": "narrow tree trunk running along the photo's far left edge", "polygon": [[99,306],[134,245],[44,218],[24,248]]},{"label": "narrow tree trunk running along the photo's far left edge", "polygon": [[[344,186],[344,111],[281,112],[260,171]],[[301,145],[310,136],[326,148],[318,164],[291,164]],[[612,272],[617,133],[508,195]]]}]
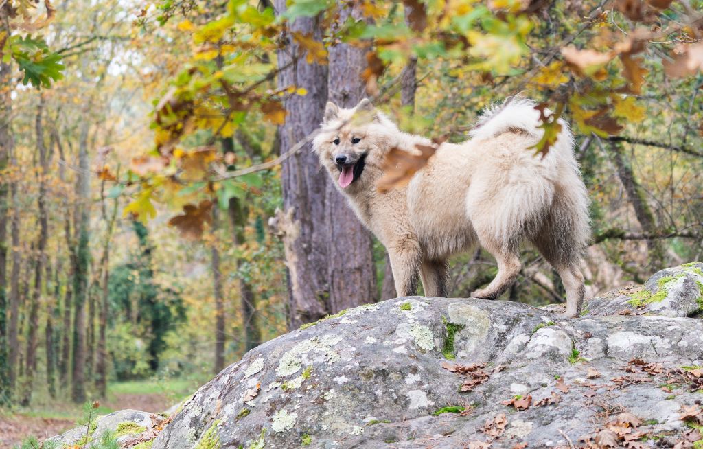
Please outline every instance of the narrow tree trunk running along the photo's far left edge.
[{"label": "narrow tree trunk running along the photo's far left edge", "polygon": [[[7,18],[2,14],[0,30],[6,29]],[[10,152],[13,146],[11,134],[12,115],[12,68],[9,64],[0,62],[0,173],[7,167]],[[0,176],[0,405],[9,405],[11,398],[11,372],[12,360],[8,354],[10,336],[7,325],[7,222],[8,222],[8,183],[2,181]]]}]

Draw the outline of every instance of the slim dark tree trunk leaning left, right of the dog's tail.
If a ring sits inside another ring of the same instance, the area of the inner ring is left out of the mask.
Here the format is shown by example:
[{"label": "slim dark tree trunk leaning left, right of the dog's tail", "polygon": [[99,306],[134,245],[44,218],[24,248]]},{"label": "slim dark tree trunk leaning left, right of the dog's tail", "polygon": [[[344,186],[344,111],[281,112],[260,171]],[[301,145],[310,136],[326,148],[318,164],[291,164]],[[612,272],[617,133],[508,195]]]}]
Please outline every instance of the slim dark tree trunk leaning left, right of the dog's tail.
[{"label": "slim dark tree trunk leaning left, right of the dog's tail", "polygon": [[[659,227],[657,226],[657,220],[654,218],[654,213],[650,208],[650,204],[647,202],[647,193],[637,182],[630,162],[625,159],[622,144],[612,143],[610,149],[612,161],[617,168],[617,174],[622,186],[625,188],[628,201],[632,204],[633,209],[635,209],[637,221],[640,222],[640,226],[642,226],[642,230],[645,231],[645,233],[657,235],[659,233]],[[662,241],[657,239],[647,240],[647,250],[649,252],[650,268],[652,272],[661,270],[664,267],[665,259]]]}]

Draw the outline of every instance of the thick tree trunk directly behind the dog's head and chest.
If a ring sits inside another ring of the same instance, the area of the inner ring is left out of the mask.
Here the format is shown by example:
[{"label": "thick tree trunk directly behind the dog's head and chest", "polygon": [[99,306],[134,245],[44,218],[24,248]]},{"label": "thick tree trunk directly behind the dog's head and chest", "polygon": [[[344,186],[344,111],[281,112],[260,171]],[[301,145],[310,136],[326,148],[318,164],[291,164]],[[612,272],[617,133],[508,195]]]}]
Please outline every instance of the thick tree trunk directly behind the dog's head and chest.
[{"label": "thick tree trunk directly behind the dog's head and chest", "polygon": [[[340,23],[349,15],[361,19],[357,6],[341,1]],[[366,96],[361,72],[366,67],[367,48],[335,44],[329,48],[329,100],[340,108],[354,108]],[[319,164],[319,162],[318,162]],[[377,299],[371,235],[363,227],[347,200],[333,183],[327,183],[325,217],[327,221],[328,276],[330,313],[359,306]]]}]

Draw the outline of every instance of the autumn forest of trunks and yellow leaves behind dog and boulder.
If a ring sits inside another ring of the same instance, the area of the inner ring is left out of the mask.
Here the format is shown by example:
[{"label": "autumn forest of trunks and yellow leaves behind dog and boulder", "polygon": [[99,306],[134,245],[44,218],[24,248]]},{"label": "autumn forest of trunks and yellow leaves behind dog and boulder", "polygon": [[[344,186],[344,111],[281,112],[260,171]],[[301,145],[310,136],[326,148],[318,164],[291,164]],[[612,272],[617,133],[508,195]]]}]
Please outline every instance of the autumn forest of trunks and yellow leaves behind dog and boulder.
[{"label": "autumn forest of trunks and yellow leaves behind dog and boulder", "polygon": [[[702,7],[0,0],[0,446],[86,399],[162,411],[263,341],[395,296],[309,151],[327,100],[462,141],[489,103],[535,98],[576,135],[587,297],[700,260]],[[505,299],[563,302],[522,260]],[[454,297],[496,272],[482,251],[451,267]]]}]

